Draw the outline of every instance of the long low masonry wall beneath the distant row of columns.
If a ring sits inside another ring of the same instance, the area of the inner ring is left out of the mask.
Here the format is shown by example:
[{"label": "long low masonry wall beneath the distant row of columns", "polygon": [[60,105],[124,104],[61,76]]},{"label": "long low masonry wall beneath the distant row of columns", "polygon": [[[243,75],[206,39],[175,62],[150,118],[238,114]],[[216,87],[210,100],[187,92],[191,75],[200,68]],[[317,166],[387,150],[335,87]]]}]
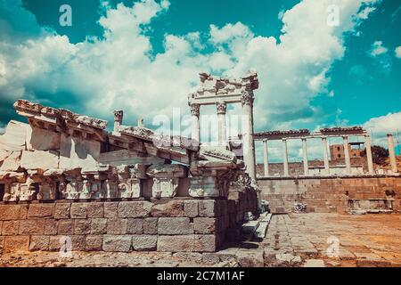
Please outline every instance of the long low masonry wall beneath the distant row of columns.
[{"label": "long low masonry wall beneath the distant row of columns", "polygon": [[273,213],[293,212],[296,202],[307,212],[401,211],[400,176],[259,178],[258,185]]}]

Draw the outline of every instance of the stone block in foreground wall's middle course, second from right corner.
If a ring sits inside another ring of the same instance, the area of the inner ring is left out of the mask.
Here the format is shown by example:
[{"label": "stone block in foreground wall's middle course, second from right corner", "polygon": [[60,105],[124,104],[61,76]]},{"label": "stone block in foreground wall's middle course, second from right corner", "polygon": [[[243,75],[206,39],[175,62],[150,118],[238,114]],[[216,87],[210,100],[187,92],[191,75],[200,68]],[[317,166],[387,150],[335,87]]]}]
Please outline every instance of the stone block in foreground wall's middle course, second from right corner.
[{"label": "stone block in foreground wall's middle course, second from right corner", "polygon": [[191,234],[193,224],[189,217],[160,217],[158,222],[159,234]]}]

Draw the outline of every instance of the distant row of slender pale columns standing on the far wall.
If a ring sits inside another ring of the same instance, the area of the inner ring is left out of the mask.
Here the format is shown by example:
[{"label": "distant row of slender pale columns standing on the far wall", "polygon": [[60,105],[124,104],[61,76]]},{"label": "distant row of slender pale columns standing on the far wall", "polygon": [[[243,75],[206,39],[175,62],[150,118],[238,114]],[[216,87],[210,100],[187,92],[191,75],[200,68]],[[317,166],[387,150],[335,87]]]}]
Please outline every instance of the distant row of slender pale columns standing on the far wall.
[{"label": "distant row of slender pale columns standing on the far wall", "polygon": [[[389,138],[392,136],[389,135]],[[322,138],[322,148],[323,148],[323,161],[324,161],[324,173],[325,175],[330,175],[330,162],[329,162],[329,151],[328,151],[328,144],[327,144],[327,137],[323,136]],[[344,145],[344,156],[345,156],[345,165],[346,165],[346,172],[350,175],[351,172],[351,158],[349,155],[348,149],[348,135],[342,136],[343,145]],[[309,175],[309,166],[308,166],[308,159],[307,159],[307,138],[301,138],[302,140],[302,159],[303,159],[303,167],[304,167],[304,175]],[[371,140],[368,134],[364,135],[364,145],[366,149],[366,159],[368,164],[368,172],[369,174],[374,174],[373,169],[373,159],[372,159],[372,148],[371,148]],[[392,147],[390,146],[390,139],[389,139],[389,149],[394,152],[394,142],[392,142]],[[393,158],[393,159],[391,159]],[[394,161],[393,161],[394,160]],[[289,175],[289,164],[288,164],[288,150],[287,150],[287,139],[282,139],[282,161],[284,167],[284,176]],[[395,153],[391,154],[390,151],[390,161],[391,165],[396,165]],[[264,171],[265,176],[269,176],[269,167],[268,167],[268,151],[267,151],[267,139],[263,140],[263,164],[264,164]],[[396,170],[394,170],[396,169]],[[397,165],[393,167],[393,172],[397,172]]]}]

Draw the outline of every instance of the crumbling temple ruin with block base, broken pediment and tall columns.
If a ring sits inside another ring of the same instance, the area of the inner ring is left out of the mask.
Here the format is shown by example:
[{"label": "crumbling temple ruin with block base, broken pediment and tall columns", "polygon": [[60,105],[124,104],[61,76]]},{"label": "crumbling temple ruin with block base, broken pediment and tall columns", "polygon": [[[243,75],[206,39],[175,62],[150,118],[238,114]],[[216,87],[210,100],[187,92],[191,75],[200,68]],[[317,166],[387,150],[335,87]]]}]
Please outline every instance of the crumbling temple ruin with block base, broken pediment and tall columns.
[{"label": "crumbling temple ruin with block base, broken pediment and tall columns", "polygon": [[108,132],[102,119],[15,102],[28,124],[11,121],[0,135],[1,247],[58,250],[70,240],[73,250],[216,251],[258,212],[255,159],[251,151],[246,166],[228,144],[199,143],[199,106],[218,102],[223,114],[221,98],[242,102],[251,119],[257,87],[256,73],[201,74],[192,139],[125,126],[123,110]]}]

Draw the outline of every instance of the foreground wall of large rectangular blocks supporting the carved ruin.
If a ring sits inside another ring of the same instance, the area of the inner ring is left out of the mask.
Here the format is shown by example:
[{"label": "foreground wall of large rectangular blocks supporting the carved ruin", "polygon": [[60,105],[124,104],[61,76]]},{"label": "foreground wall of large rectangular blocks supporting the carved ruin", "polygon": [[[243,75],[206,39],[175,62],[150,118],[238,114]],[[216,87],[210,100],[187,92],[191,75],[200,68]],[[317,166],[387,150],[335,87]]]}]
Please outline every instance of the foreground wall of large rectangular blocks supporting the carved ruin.
[{"label": "foreground wall of large rectangular blocks supporting the carved ruin", "polygon": [[[214,252],[225,233],[255,211],[257,198],[160,199],[0,205],[0,252],[72,250]],[[254,197],[255,196],[255,197]]]}]

